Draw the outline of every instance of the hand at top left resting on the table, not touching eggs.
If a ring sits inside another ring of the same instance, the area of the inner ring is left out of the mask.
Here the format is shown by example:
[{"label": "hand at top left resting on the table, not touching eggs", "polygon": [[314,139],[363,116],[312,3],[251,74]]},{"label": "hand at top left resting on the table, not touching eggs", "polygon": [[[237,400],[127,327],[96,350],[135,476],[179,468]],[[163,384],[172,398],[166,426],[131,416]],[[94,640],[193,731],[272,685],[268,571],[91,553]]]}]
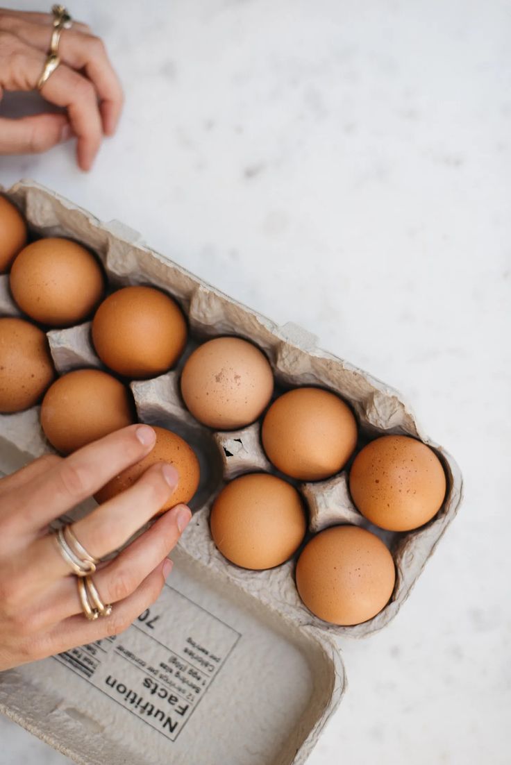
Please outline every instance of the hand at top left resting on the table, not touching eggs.
[{"label": "hand at top left resting on the table, not touching eggs", "polygon": [[[35,90],[41,77],[53,16],[0,8],[0,99],[4,90]],[[73,135],[76,158],[90,170],[103,135],[113,135],[123,95],[103,41],[86,24],[64,29],[60,64],[42,86],[47,101],[66,113],[0,119],[0,155],[47,151]]]}]

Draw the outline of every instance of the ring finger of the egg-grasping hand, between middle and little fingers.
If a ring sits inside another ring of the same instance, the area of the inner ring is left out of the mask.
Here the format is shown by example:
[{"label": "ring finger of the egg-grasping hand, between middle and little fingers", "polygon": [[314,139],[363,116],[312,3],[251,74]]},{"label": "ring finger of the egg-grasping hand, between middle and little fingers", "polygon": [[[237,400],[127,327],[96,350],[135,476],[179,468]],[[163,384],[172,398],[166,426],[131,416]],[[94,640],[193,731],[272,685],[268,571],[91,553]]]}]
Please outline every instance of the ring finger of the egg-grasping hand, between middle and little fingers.
[{"label": "ring finger of the egg-grasping hand, between middle and little fingers", "polygon": [[[174,549],[190,518],[187,506],[174,507],[126,547],[115,560],[96,571],[93,582],[103,603],[114,604],[129,597]],[[67,576],[44,591],[37,609],[37,621],[32,622],[32,627],[35,631],[44,630],[73,614],[81,613],[76,578]]]}]

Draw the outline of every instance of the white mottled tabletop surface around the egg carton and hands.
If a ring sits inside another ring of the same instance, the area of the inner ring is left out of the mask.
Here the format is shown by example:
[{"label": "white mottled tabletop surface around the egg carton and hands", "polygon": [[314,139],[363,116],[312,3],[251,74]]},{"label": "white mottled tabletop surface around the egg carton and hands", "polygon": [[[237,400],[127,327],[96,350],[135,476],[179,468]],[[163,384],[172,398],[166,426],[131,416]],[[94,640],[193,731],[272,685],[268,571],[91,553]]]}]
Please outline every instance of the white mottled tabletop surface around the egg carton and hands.
[{"label": "white mottled tabletop surface around the egg carton and hands", "polygon": [[[343,643],[350,688],[309,765],[509,763],[509,2],[70,7],[122,73],[119,135],[91,174],[66,146],[1,159],[2,183],[34,177],[307,327],[464,470],[402,613]],[[0,737],[2,765],[67,761]]]}]

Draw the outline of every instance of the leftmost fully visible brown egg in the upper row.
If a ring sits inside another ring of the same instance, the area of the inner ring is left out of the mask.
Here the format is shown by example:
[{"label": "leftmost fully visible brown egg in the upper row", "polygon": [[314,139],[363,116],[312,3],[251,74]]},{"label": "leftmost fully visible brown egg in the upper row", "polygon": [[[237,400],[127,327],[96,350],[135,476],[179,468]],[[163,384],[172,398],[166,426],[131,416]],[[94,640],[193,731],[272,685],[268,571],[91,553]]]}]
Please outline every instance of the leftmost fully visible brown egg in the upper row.
[{"label": "leftmost fully visible brown egg in the upper row", "polygon": [[103,294],[103,271],[88,249],[70,239],[37,239],[11,269],[11,292],[21,311],[50,327],[84,321]]}]

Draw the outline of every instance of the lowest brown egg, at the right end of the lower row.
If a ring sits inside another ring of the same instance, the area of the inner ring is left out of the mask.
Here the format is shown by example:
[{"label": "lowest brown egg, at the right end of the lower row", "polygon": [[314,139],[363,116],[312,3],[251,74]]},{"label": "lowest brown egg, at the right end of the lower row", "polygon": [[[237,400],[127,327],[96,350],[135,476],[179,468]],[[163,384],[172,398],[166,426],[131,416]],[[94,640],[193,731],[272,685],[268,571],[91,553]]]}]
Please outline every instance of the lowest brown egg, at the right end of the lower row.
[{"label": "lowest brown egg, at the right end of the lower row", "polygon": [[296,566],[304,604],[324,621],[348,626],[372,619],[395,584],[392,555],[382,540],[357,526],[332,526],[305,545]]}]

